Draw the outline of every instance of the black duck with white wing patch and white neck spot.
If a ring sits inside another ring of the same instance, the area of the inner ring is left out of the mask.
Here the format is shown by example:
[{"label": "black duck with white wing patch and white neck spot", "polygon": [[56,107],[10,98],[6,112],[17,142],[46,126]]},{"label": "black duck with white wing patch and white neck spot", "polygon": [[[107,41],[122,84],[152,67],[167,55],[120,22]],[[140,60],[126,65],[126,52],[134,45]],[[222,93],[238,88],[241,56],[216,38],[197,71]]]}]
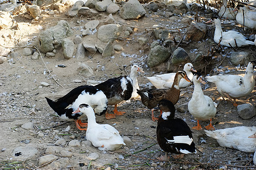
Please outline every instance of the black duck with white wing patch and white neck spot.
[{"label": "black duck with white wing patch and white neck spot", "polygon": [[196,152],[195,143],[192,142],[192,131],[186,122],[180,118],[174,118],[174,104],[163,99],[159,102],[158,107],[163,112],[157,122],[157,142],[162,150],[178,155]]}]

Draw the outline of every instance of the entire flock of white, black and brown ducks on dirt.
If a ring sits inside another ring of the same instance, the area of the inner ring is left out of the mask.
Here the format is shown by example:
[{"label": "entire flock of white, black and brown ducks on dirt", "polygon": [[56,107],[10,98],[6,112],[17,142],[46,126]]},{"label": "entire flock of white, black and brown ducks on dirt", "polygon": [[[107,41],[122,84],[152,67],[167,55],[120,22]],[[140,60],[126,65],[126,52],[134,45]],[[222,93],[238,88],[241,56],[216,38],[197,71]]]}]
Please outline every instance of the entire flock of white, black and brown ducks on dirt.
[{"label": "entire flock of white, black and brown ducks on dirt", "polygon": [[[248,3],[249,4],[249,3]],[[226,0],[219,11],[220,18],[236,19],[238,23],[250,29],[256,29],[256,11],[254,3],[250,6],[239,5],[237,10],[228,8]],[[236,31],[223,32],[220,19],[215,19],[214,41],[217,44],[229,47],[256,45],[246,40],[245,36]],[[244,76],[232,74],[219,74],[205,76],[208,82],[214,83],[219,94],[237,107],[236,99],[245,97],[253,91],[255,86],[254,67],[256,61],[247,64]],[[141,67],[133,65],[129,76],[111,78],[95,86],[79,86],[65,96],[53,101],[47,99],[49,106],[60,118],[74,120],[79,130],[86,130],[86,138],[99,150],[114,151],[125,145],[119,131],[108,124],[98,124],[95,114],[105,114],[107,119],[123,115],[125,112],[117,111],[117,104],[121,101],[139,97],[152,112],[152,121],[157,121],[156,136],[159,146],[165,151],[165,156],[158,159],[169,160],[168,153],[175,159],[183,158],[184,154],[196,153],[192,131],[203,130],[199,121],[209,121],[204,128],[205,134],[215,138],[222,147],[236,148],[244,152],[256,150],[256,127],[237,126],[215,130],[212,118],[215,117],[217,104],[211,97],[204,95],[200,83],[204,84],[203,76],[194,69],[192,63],[186,63],[183,70],[177,73],[167,73],[145,77],[154,88],[140,89],[137,73],[143,73]],[[188,102],[188,111],[196,118],[197,125],[190,128],[185,121],[175,118],[175,104],[179,100],[180,88],[194,83],[194,92]],[[108,105],[115,105],[114,114],[107,112]],[[159,117],[154,111],[160,110]],[[87,123],[82,122],[87,117]],[[256,152],[254,154],[256,165]]]}]

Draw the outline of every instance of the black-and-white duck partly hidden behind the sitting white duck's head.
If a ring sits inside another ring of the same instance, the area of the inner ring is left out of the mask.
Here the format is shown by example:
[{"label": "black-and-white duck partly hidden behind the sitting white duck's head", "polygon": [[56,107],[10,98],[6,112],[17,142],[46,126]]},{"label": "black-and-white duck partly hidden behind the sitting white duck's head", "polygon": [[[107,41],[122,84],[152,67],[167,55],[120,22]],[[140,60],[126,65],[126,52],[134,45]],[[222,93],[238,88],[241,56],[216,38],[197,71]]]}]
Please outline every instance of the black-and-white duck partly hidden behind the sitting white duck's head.
[{"label": "black-and-white duck partly hidden behind the sitting white duck's head", "polygon": [[[94,86],[79,86],[74,88],[68,94],[60,97],[56,101],[45,97],[49,106],[55,111],[60,118],[64,120],[74,120],[79,130],[86,130],[87,123],[82,123],[81,119],[85,114],[78,112],[72,113],[80,104],[89,104],[96,114],[102,115],[107,111],[106,95]],[[82,127],[82,128],[81,128]],[[83,129],[84,128],[84,129]]]}]

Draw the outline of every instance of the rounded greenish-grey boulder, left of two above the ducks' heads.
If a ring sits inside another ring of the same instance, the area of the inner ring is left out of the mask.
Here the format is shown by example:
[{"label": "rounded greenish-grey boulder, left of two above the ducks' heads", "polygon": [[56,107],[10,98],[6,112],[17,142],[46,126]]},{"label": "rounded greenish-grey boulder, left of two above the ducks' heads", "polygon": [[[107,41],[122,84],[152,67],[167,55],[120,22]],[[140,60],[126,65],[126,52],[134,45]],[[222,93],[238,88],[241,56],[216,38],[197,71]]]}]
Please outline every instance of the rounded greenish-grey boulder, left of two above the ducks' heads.
[{"label": "rounded greenish-grey boulder, left of two above the ducks' heads", "polygon": [[161,45],[157,45],[153,49],[150,49],[148,56],[148,66],[150,68],[158,66],[166,61],[166,59],[168,59],[169,57],[170,51]]}]

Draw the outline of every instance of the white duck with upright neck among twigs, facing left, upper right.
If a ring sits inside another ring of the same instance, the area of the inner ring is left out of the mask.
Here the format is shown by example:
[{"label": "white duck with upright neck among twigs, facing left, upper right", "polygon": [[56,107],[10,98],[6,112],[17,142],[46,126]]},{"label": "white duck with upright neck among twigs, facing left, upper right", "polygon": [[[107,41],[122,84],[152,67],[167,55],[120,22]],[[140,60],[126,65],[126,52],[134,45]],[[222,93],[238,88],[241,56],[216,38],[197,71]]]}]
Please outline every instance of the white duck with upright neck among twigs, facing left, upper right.
[{"label": "white duck with upright neck among twigs, facing left, upper right", "polygon": [[245,39],[245,36],[236,31],[223,32],[221,29],[220,19],[215,19],[215,32],[213,40],[220,45],[240,47],[253,45],[253,41]]}]

